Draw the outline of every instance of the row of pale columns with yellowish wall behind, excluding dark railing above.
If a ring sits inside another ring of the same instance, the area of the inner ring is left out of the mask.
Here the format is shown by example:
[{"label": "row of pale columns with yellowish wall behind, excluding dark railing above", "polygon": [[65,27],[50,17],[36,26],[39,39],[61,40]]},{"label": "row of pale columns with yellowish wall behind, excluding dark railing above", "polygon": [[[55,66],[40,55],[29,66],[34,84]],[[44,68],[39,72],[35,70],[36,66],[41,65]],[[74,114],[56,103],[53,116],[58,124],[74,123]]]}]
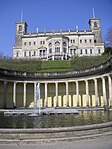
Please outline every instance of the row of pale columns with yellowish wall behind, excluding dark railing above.
[{"label": "row of pale columns with yellowish wall behind, excluding dark railing above", "polygon": [[40,86],[41,107],[112,106],[110,74],[44,81],[0,80],[0,108],[33,108],[38,105],[36,85]]}]

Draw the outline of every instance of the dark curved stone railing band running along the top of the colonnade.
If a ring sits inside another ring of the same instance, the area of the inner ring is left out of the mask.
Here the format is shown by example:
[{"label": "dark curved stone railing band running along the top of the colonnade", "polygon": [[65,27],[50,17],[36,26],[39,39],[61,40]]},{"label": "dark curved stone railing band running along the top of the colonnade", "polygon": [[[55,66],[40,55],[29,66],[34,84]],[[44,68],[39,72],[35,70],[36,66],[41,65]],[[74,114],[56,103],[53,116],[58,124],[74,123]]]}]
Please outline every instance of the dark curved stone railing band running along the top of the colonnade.
[{"label": "dark curved stone railing band running along the top of the colonnade", "polygon": [[16,70],[8,70],[0,68],[0,78],[16,79],[16,80],[44,80],[44,79],[64,79],[76,78],[90,75],[100,75],[112,70],[112,57],[97,66],[86,68],[78,71],[69,72],[22,72]]}]

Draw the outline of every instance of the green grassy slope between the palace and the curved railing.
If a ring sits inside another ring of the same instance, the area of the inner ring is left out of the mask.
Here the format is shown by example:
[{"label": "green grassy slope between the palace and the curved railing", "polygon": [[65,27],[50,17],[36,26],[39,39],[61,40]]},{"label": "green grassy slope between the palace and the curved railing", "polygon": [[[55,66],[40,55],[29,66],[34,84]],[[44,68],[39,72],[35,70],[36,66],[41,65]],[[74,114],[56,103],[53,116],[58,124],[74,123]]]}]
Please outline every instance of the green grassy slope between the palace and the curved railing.
[{"label": "green grassy slope between the palace and the curved railing", "polygon": [[89,68],[99,65],[108,59],[109,55],[97,57],[79,57],[66,61],[0,59],[0,68],[30,72],[59,72]]}]

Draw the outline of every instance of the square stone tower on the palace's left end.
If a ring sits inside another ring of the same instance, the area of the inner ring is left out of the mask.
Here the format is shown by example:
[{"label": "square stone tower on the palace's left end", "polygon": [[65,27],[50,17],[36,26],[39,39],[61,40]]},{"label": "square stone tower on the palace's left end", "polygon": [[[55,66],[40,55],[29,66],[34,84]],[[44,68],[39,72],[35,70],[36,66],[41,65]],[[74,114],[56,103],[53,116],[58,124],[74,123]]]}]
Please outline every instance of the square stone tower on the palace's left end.
[{"label": "square stone tower on the palace's left end", "polygon": [[23,34],[27,33],[27,23],[26,22],[16,22],[16,46],[22,45],[21,37]]}]

